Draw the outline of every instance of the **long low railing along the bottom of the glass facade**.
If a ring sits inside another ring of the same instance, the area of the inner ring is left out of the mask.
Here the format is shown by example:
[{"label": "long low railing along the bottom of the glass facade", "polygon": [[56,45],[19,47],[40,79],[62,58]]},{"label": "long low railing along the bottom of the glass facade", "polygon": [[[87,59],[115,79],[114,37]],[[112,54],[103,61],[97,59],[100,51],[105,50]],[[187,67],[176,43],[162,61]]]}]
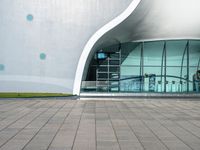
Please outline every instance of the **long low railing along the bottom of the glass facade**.
[{"label": "long low railing along the bottom of the glass facade", "polygon": [[[166,89],[164,86],[166,84]],[[187,92],[186,81],[167,81],[155,83],[125,80],[119,81],[119,85],[109,81],[82,81],[82,92]],[[200,93],[200,82],[190,82],[189,92]]]}]

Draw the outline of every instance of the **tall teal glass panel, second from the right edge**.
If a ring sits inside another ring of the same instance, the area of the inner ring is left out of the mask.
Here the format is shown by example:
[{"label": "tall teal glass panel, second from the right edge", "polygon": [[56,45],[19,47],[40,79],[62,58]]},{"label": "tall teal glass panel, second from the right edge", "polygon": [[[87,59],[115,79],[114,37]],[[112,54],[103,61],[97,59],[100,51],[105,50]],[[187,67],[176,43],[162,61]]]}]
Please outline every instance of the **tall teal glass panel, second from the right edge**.
[{"label": "tall teal glass panel, second from the right edge", "polygon": [[166,92],[186,92],[187,91],[187,84],[182,85],[182,83],[186,83],[187,81],[187,51],[186,51],[187,47],[186,45],[187,45],[187,41],[168,41],[167,42]]}]

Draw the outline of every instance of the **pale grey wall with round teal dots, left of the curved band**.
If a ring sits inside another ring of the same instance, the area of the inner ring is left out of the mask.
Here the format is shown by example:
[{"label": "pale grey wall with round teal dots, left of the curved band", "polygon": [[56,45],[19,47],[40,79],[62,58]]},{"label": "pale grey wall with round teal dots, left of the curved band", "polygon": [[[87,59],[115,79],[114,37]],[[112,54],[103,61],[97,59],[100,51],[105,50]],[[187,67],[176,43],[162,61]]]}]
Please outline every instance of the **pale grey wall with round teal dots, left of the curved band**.
[{"label": "pale grey wall with round teal dots, left of the curved band", "polygon": [[85,44],[131,1],[0,0],[0,92],[72,93]]}]

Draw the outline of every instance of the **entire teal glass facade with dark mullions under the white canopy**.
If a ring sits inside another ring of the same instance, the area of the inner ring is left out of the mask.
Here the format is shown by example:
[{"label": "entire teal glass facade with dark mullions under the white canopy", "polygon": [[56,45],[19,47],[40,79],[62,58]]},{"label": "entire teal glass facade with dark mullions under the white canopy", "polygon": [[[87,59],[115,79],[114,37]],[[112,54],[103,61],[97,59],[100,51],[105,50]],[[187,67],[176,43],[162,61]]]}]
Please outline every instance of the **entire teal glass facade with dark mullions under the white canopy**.
[{"label": "entire teal glass facade with dark mullions under the white canopy", "polygon": [[200,41],[129,42],[93,57],[82,92],[200,93]]}]

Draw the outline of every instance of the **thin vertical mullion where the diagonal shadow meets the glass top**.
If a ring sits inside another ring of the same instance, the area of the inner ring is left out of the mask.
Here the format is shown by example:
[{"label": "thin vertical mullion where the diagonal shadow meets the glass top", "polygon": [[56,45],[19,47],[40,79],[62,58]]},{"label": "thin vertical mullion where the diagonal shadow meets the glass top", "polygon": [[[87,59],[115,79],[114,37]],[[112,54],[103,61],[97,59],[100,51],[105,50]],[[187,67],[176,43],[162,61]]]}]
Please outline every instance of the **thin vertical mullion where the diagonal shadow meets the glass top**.
[{"label": "thin vertical mullion where the diagonal shadow meets the glass top", "polygon": [[141,54],[140,54],[140,92],[144,88],[144,42],[141,43]]}]

